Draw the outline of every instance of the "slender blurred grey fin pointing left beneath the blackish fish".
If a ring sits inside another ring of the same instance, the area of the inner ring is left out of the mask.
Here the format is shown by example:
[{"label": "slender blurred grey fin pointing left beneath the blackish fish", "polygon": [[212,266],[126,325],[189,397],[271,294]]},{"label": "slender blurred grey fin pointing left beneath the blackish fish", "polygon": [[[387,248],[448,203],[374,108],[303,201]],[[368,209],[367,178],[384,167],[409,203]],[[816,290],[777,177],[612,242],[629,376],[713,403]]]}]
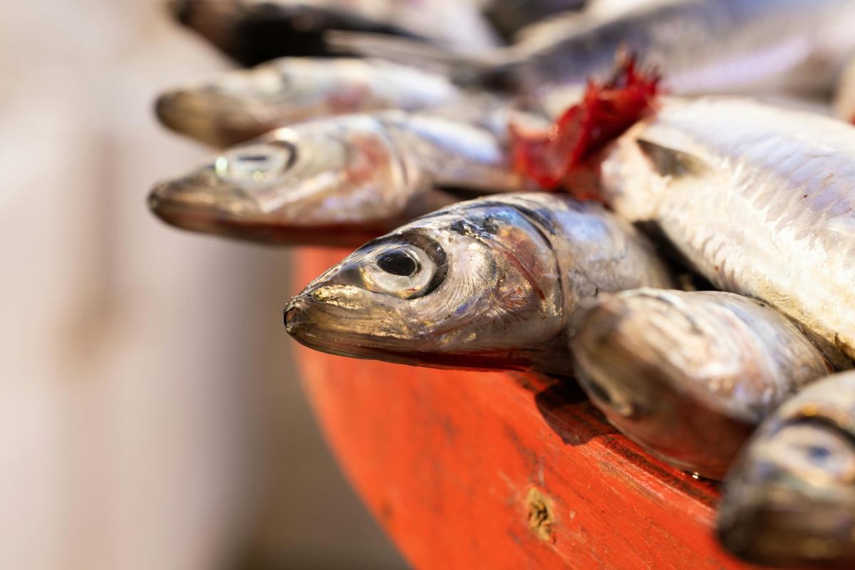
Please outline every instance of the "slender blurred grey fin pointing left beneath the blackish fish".
[{"label": "slender blurred grey fin pointing left beneath the blackish fish", "polygon": [[489,54],[463,54],[437,44],[369,32],[330,30],[325,35],[330,50],[374,57],[442,73],[458,85],[498,88],[510,86],[510,73]]}]

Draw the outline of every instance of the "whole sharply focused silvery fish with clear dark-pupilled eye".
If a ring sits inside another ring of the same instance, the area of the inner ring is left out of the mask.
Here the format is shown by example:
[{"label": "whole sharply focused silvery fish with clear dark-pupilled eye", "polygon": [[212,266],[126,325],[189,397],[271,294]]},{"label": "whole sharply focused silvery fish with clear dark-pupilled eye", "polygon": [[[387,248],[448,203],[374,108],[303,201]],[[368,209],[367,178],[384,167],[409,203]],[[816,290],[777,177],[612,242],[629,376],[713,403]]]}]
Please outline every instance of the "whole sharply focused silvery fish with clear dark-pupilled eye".
[{"label": "whole sharply focused silvery fish with clear dark-pupilled eye", "polygon": [[292,298],[285,325],[335,355],[566,376],[585,299],[671,283],[652,244],[599,204],[502,194],[364,244]]}]

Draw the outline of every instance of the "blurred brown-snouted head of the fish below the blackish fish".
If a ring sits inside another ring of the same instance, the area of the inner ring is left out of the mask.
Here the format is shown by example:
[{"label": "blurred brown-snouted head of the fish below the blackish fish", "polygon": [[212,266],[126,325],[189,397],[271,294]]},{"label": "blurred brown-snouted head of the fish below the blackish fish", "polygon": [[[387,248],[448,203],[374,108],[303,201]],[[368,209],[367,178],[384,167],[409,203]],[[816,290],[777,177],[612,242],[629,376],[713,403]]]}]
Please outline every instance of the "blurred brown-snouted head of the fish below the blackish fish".
[{"label": "blurred brown-snouted head of the fish below the blackish fish", "polygon": [[220,73],[158,97],[163,125],[215,147],[279,126],[370,108],[369,88],[347,75],[350,62],[281,58]]}]

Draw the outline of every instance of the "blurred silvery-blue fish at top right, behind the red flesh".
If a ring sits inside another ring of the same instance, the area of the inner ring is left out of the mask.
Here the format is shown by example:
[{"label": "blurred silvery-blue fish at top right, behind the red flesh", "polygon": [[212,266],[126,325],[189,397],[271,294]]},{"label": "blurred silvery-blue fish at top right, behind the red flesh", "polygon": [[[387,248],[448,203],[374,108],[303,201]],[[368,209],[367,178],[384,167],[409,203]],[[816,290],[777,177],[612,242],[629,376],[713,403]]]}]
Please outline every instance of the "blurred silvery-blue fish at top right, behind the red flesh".
[{"label": "blurred silvery-blue fish at top right, behind the red flesh", "polygon": [[445,68],[465,85],[488,85],[539,99],[609,73],[628,50],[656,68],[677,95],[827,91],[855,49],[855,0],[670,0],[607,9],[566,30],[476,54],[416,46],[403,38],[337,33],[341,50]]}]

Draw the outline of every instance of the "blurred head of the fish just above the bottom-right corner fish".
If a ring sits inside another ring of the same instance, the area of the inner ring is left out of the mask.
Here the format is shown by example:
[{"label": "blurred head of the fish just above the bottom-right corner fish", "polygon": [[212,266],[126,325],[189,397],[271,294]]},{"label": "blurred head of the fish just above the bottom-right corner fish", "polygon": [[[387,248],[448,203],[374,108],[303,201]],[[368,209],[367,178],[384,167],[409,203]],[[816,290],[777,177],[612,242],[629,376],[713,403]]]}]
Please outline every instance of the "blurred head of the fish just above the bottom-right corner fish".
[{"label": "blurred head of the fish just above the bottom-right corner fish", "polygon": [[740,359],[752,353],[740,350],[745,339],[730,321],[685,295],[653,289],[600,295],[583,309],[570,339],[576,377],[636,443],[687,471],[721,479],[757,420],[716,386],[750,386],[752,379],[740,373],[752,367]]}]

